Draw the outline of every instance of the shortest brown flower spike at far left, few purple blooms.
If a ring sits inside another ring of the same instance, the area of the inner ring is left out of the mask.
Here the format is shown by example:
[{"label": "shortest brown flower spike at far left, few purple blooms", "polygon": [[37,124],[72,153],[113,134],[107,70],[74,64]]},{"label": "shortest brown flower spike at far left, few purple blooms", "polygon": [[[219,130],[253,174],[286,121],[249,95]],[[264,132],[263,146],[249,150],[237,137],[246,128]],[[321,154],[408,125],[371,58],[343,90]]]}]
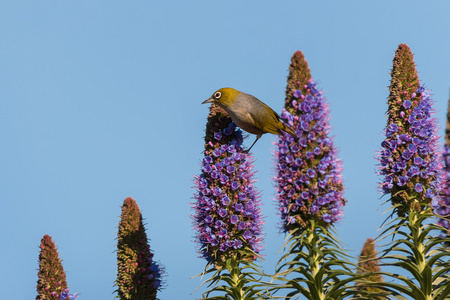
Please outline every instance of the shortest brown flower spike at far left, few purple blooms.
[{"label": "shortest brown flower spike at far left, few purple blooms", "polygon": [[39,271],[36,300],[75,299],[77,295],[69,294],[66,273],[59,258],[55,242],[49,235],[44,235],[40,245]]}]

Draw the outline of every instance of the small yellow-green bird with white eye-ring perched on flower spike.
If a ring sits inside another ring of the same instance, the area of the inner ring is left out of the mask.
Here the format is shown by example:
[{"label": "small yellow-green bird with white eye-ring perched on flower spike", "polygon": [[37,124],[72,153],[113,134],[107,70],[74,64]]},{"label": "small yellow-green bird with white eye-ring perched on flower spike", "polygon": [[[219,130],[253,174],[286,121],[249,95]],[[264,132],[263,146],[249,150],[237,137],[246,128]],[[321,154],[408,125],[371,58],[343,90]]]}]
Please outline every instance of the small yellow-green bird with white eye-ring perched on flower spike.
[{"label": "small yellow-green bird with white eye-ring perched on flower spike", "polygon": [[237,126],[256,134],[256,140],[246,152],[250,151],[264,133],[282,135],[285,131],[294,138],[297,137],[294,130],[280,121],[280,116],[273,109],[252,95],[232,88],[222,88],[202,104],[205,103],[222,107]]}]

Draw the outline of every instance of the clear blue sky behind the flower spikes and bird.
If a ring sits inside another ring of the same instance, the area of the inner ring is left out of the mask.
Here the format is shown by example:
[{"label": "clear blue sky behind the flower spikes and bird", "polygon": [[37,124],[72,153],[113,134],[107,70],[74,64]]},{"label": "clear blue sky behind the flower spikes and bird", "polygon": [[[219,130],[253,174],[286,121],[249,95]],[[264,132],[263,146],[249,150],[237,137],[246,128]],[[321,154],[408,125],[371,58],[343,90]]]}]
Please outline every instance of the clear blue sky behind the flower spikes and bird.
[{"label": "clear blue sky behind the flower spikes and bird", "polygon": [[[448,1],[9,1],[0,3],[0,299],[36,295],[38,245],[53,237],[73,292],[113,298],[116,235],[139,204],[161,299],[195,299],[189,215],[208,114],[230,86],[280,112],[301,50],[327,96],[348,200],[337,230],[358,255],[384,220],[376,151],[394,52],[407,43],[444,133]],[[244,143],[250,145],[254,137]],[[272,142],[252,149],[262,192],[262,267],[280,257]],[[442,141],[442,139],[441,139]],[[80,299],[81,299],[80,298]]]}]

